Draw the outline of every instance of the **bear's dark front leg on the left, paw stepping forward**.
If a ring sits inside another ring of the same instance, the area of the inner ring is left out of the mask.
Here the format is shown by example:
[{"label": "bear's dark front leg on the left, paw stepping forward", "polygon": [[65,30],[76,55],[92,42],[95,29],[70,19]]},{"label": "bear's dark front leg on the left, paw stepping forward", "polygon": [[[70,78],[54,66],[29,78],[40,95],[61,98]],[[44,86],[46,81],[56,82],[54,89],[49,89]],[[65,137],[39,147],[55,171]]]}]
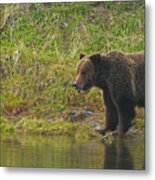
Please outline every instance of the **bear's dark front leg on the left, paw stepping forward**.
[{"label": "bear's dark front leg on the left, paw stepping forward", "polygon": [[104,91],[104,103],[105,103],[105,116],[106,116],[106,125],[103,130],[100,131],[102,135],[105,134],[106,131],[114,131],[118,124],[118,115],[117,115],[117,109],[115,105],[113,104],[113,101],[111,99],[111,96],[108,92],[108,90]]}]

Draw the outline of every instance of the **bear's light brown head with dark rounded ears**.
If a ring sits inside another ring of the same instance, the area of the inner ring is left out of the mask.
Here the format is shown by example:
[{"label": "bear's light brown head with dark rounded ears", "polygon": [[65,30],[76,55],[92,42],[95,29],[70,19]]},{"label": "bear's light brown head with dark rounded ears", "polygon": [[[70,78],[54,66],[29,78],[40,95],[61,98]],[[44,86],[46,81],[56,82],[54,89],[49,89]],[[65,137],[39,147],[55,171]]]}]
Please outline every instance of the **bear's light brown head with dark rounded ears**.
[{"label": "bear's light brown head with dark rounded ears", "polygon": [[92,86],[95,86],[95,65],[99,64],[100,60],[100,54],[94,54],[91,56],[80,54],[80,60],[76,66],[76,79],[72,85],[75,89],[79,91],[87,91]]}]

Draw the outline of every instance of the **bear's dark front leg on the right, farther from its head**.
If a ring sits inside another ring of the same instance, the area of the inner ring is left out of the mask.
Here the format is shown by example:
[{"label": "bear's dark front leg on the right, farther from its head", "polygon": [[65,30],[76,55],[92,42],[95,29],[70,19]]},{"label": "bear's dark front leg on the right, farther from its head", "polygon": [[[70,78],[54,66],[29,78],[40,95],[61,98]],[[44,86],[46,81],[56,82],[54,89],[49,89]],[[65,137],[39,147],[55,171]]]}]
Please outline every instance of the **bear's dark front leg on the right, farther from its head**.
[{"label": "bear's dark front leg on the right, farther from its head", "polygon": [[135,116],[135,106],[130,100],[122,98],[118,103],[118,117],[119,117],[119,134],[124,135],[131,126],[131,121]]}]

